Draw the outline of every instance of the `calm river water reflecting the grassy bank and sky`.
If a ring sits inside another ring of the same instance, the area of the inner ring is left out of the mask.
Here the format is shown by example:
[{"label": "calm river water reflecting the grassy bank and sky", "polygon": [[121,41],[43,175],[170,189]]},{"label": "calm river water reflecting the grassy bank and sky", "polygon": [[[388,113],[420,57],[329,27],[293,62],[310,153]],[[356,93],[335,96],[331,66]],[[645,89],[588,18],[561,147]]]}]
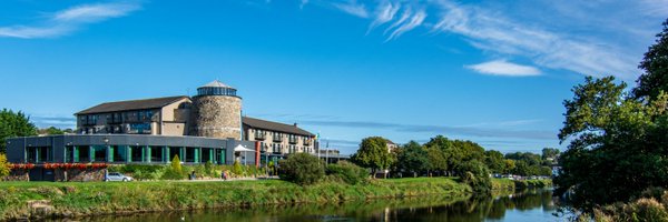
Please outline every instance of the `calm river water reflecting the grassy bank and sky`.
[{"label": "calm river water reflecting the grassy bank and sky", "polygon": [[494,198],[446,196],[217,209],[193,212],[100,216],[80,221],[562,221],[553,213],[551,190],[530,190]]}]

